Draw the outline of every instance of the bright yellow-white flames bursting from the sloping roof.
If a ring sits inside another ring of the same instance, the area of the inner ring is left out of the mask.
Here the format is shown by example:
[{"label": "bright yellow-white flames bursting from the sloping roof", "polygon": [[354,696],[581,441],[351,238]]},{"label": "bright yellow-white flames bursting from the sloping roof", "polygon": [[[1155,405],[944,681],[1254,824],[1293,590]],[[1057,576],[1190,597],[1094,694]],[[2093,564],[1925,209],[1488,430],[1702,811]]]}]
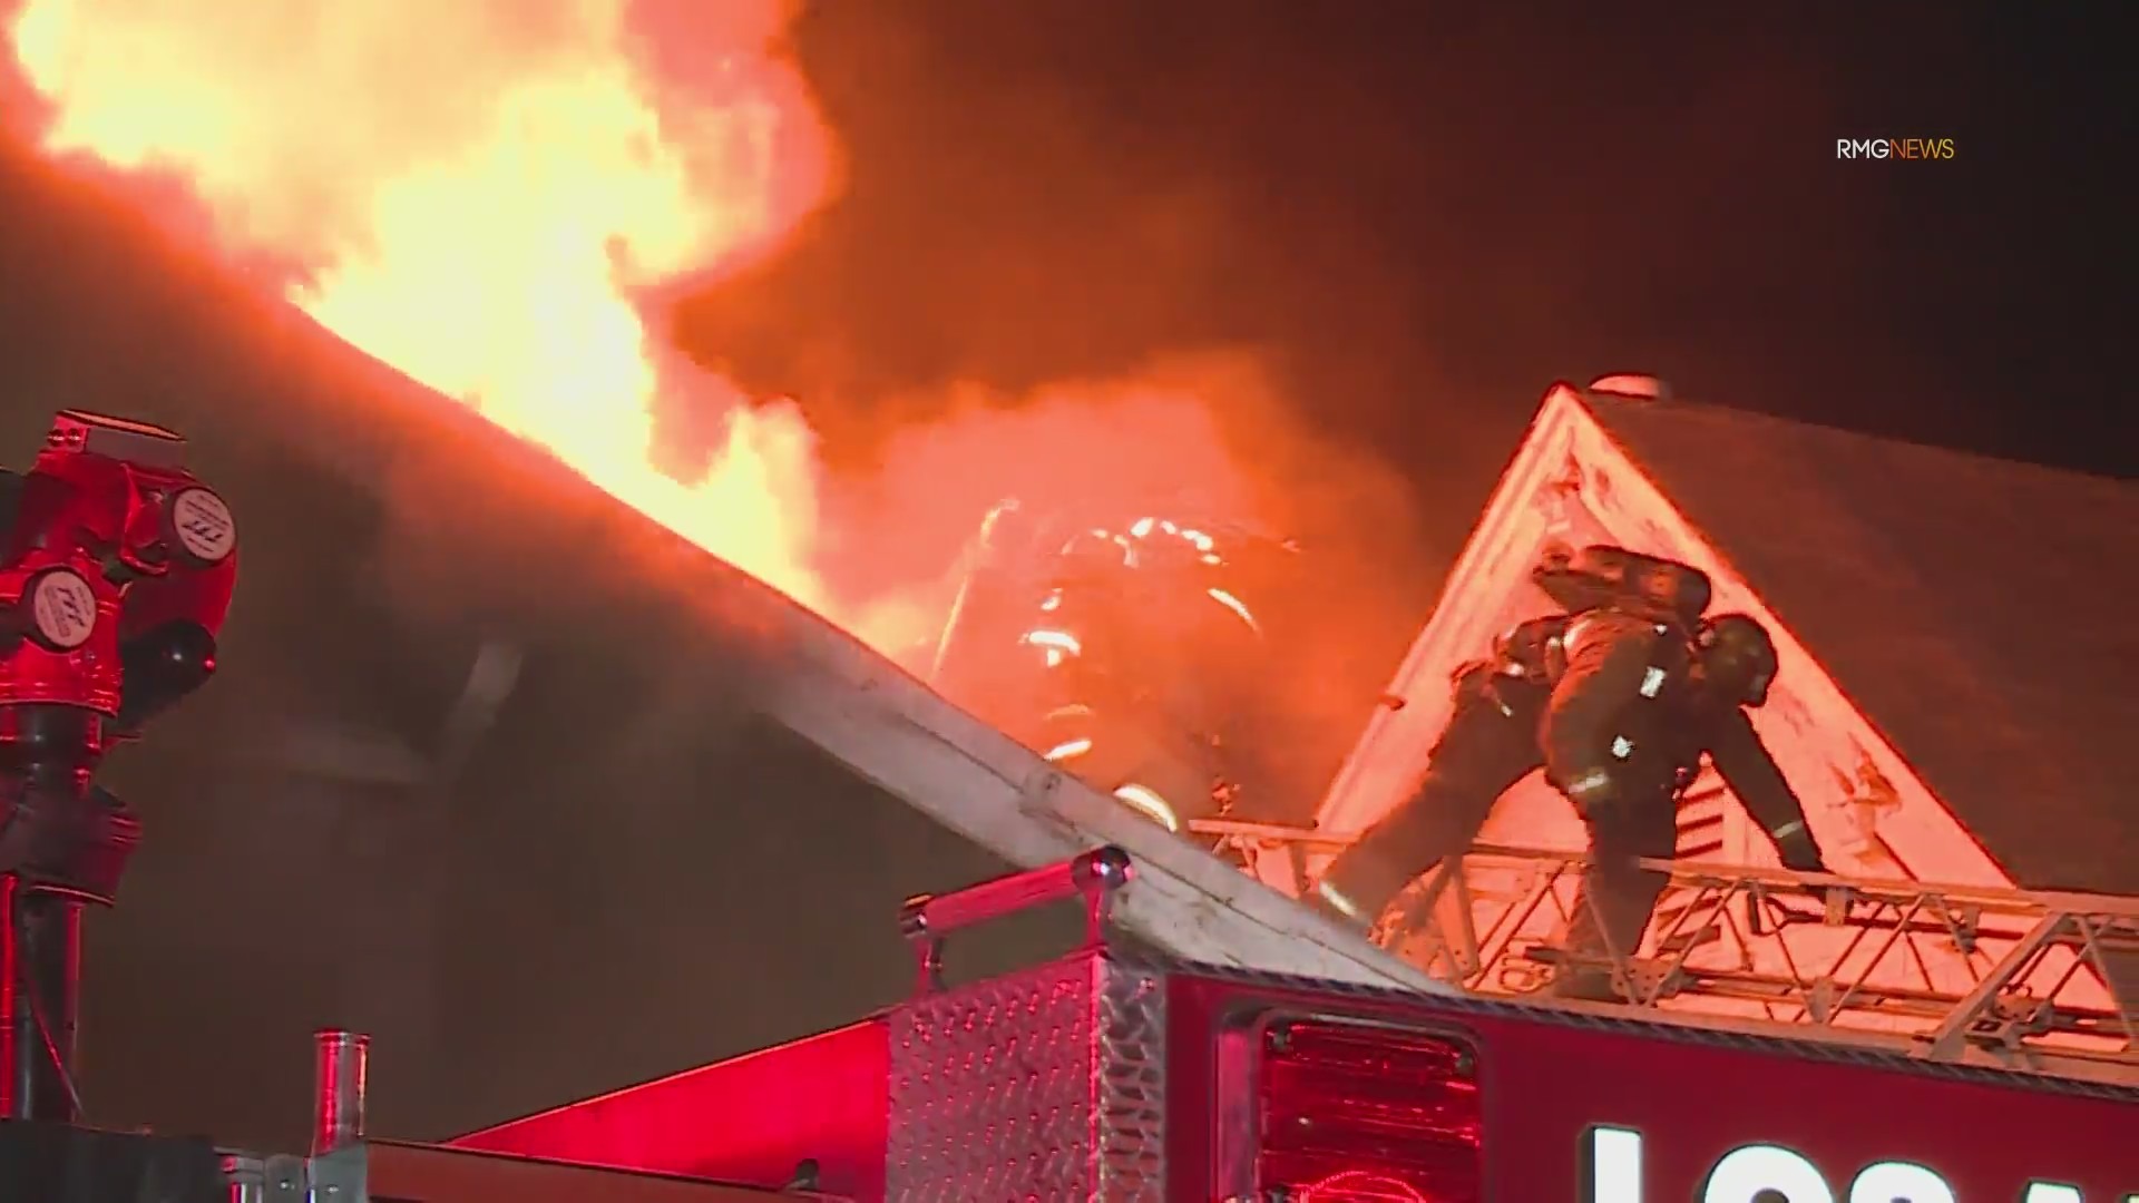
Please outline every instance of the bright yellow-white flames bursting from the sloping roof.
[{"label": "bright yellow-white flames bursting from the sloping roof", "polygon": [[[49,154],[180,176],[218,250],[293,265],[327,330],[830,612],[800,411],[665,375],[635,302],[776,250],[830,191],[830,135],[787,4],[697,4],[682,36],[640,9],[26,0],[9,32]],[[684,81],[655,68],[676,45]],[[655,467],[676,390],[727,409],[695,479]]]}]

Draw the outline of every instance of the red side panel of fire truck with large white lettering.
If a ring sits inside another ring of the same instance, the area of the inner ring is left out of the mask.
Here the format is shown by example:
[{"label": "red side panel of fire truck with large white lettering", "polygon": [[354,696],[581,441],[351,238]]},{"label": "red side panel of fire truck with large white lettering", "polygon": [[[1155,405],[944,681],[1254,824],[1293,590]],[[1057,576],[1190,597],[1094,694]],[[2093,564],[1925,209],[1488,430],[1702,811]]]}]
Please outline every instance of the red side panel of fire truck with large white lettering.
[{"label": "red side panel of fire truck with large white lettering", "polygon": [[1172,1199],[1213,1199],[1217,1034],[1264,1012],[1348,1015],[1429,1025],[1478,1051],[1484,1107],[1482,1199],[1583,1201],[1594,1126],[1645,1137],[1647,1201],[1701,1199],[1730,1149],[1773,1143],[1822,1169],[1837,1199],[1878,1160],[1925,1164],[1959,1199],[2017,1201],[2030,1182],[2086,1203],[2139,1192],[2139,1105],[2013,1083],[1953,1079],[1910,1062],[1842,1064],[1769,1047],[1728,1047],[1668,1025],[1576,1025],[1519,1008],[1478,1012],[1431,998],[1380,1002],[1318,989],[1262,989],[1176,976],[1168,995]]}]

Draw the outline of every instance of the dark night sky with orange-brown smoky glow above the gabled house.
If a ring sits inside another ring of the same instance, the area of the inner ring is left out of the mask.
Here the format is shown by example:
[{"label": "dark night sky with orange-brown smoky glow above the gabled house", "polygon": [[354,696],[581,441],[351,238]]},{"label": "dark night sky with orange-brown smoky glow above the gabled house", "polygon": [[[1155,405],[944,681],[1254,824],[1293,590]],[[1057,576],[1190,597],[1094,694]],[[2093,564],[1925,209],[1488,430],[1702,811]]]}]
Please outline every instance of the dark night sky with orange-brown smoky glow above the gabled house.
[{"label": "dark night sky with orange-brown smoky glow above the gabled house", "polygon": [[[2105,400],[2133,122],[2092,9],[920,9],[800,30],[853,186],[684,319],[753,379],[1020,383],[1245,340],[1459,524],[1542,385],[1611,368],[2135,465]],[[1835,158],[1880,131],[1957,154]]]}]

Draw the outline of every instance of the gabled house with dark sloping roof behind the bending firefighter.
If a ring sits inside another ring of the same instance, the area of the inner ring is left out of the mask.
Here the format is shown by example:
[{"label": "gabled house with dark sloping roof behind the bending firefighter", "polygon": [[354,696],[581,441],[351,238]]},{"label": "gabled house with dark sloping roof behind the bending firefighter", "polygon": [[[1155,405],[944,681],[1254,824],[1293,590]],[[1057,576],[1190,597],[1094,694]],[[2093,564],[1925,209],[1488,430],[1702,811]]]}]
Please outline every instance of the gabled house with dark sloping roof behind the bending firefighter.
[{"label": "gabled house with dark sloping roof behind the bending firefighter", "polygon": [[[2139,724],[2120,681],[2139,666],[2139,636],[2122,614],[2133,531],[2130,482],[1673,400],[1647,377],[1555,387],[1403,659],[1395,706],[1373,717],[1330,788],[1322,826],[1343,837],[1397,805],[1448,719],[1450,672],[1495,631],[1553,608],[1529,582],[1532,565],[1555,544],[1602,542],[1703,569],[1715,612],[1752,614],[1775,634],[1780,674],[1754,721],[1835,873],[1985,899],[2015,888],[2139,893],[2139,820],[2113,751]],[[1474,856],[1455,899],[1461,914],[1442,899],[1442,923],[1414,955],[1448,955],[1455,929],[1484,933],[1484,948],[1474,940],[1457,955],[1467,957],[1457,972],[1512,985],[1521,974],[1504,980],[1491,961],[1549,942],[1555,923],[1525,918],[1517,899],[1549,895],[1553,850],[1579,852],[1585,837],[1534,777],[1502,796],[1482,843],[1525,854]],[[1677,852],[1705,865],[1775,863],[1713,773],[1683,796]],[[1925,890],[1919,912],[1946,905]],[[1831,957],[1840,980],[1955,995],[1987,968],[1968,925],[1932,923],[1902,953],[1818,923],[1763,938],[1701,899],[1701,886],[1681,882],[1645,948],[1692,974],[1688,995],[1701,983],[1733,993],[1733,974],[1825,972],[1790,968],[1792,955]],[[1675,923],[1688,908],[1707,910]],[[1880,923],[1908,929],[1914,918]],[[2064,970],[2094,978],[2086,989],[2096,1002],[2109,1002],[2105,989],[2120,995],[2128,1015],[2139,950],[2094,938],[2073,948]],[[1713,976],[1696,972],[1703,963]]]}]

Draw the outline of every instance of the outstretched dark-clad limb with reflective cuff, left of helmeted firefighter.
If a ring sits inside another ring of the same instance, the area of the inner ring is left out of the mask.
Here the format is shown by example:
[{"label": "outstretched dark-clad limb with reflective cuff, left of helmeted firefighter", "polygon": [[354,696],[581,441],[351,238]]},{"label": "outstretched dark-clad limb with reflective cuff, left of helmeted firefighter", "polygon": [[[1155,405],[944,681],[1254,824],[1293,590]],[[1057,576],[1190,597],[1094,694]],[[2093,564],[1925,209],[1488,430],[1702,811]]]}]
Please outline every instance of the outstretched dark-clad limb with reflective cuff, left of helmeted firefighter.
[{"label": "outstretched dark-clad limb with reflective cuff, left of helmeted firefighter", "polygon": [[1566,627],[1566,614],[1521,623],[1491,659],[1455,672],[1455,709],[1418,790],[1330,863],[1311,905],[1371,927],[1403,886],[1478,839],[1493,803],[1544,766],[1538,721]]}]

